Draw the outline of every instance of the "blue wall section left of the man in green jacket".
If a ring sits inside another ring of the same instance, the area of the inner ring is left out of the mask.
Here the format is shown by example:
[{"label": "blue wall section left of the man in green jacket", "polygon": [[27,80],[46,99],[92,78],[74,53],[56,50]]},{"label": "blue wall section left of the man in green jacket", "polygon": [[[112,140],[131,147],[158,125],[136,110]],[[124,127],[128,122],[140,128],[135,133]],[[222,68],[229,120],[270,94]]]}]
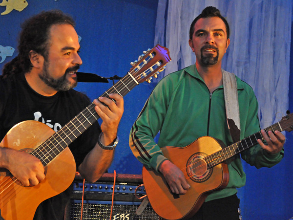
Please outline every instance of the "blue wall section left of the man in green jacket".
[{"label": "blue wall section left of the man in green jacket", "polygon": [[[21,22],[43,10],[61,9],[75,19],[77,33],[82,37],[80,71],[123,77],[131,68],[130,62],[153,47],[157,5],[158,0],[28,0],[23,11],[0,15],[0,45],[16,49],[12,57],[6,57],[0,64],[0,69],[18,54],[16,39]],[[4,10],[0,7],[0,13]],[[112,85],[79,83],[76,89],[94,99]],[[120,142],[109,172],[141,173],[142,165],[129,149],[128,135],[153,87],[152,83],[142,83],[125,96],[125,113],[118,132]]]}]

